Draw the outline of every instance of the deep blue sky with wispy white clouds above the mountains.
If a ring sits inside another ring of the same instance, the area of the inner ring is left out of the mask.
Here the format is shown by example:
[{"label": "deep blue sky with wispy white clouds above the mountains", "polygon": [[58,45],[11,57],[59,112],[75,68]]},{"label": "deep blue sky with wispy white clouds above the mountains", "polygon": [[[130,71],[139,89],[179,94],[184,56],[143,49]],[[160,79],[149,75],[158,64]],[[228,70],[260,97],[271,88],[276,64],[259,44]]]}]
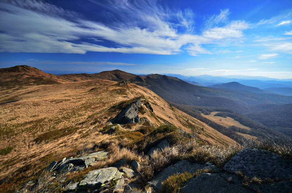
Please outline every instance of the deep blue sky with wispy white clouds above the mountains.
[{"label": "deep blue sky with wispy white clouds above the mountains", "polygon": [[0,0],[0,68],[292,78],[291,0]]}]

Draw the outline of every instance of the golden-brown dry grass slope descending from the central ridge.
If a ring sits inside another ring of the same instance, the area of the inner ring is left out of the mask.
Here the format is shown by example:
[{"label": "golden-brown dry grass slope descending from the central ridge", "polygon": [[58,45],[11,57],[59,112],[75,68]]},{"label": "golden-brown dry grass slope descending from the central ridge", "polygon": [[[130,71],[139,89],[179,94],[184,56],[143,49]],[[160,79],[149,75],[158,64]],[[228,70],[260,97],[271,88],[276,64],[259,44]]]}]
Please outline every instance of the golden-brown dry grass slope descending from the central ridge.
[{"label": "golden-brown dry grass slope descending from the central ridge", "polygon": [[[213,144],[236,144],[134,83],[119,85],[96,79],[53,85],[7,86],[0,90],[0,101],[19,101],[0,106],[0,150],[12,149],[8,154],[0,155],[0,178],[13,177],[17,175],[15,171],[25,178],[30,175],[30,170],[25,169],[29,163],[44,164],[52,157],[70,156],[78,149],[107,139],[109,135],[101,135],[98,131],[121,111],[111,107],[137,97],[141,97],[143,103],[151,104],[153,113],[142,105],[147,111],[138,115],[150,120],[155,127],[173,124],[188,133],[200,131],[197,136]],[[141,124],[122,125],[122,129],[135,130]],[[139,133],[133,132],[133,135]]]}]

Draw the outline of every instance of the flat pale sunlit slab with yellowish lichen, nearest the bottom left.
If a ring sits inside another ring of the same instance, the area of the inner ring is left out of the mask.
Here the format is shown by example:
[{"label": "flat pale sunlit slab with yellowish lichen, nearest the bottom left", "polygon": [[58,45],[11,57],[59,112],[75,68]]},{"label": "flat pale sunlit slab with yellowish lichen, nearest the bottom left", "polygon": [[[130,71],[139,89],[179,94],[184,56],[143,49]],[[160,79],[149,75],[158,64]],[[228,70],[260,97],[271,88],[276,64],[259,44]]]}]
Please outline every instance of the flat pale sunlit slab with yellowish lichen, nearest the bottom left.
[{"label": "flat pale sunlit slab with yellowish lichen, nearest the bottom left", "polygon": [[79,186],[85,187],[100,187],[104,184],[110,182],[117,173],[118,169],[116,167],[102,168],[98,170],[93,170],[85,175],[85,179],[80,181]]}]

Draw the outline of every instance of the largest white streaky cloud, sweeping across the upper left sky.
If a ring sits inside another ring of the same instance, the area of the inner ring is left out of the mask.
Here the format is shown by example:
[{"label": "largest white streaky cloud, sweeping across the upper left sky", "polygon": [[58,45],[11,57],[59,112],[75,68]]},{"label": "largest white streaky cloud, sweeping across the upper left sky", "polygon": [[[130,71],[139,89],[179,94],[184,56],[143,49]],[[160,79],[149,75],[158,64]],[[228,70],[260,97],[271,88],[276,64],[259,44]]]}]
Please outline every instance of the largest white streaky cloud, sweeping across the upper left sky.
[{"label": "largest white streaky cloud, sweeping across the upper left sky", "polygon": [[[156,0],[90,1],[110,11],[112,22],[86,20],[76,12],[43,1],[0,2],[0,51],[171,55],[189,45],[187,52],[197,56],[212,54],[203,47],[205,44],[239,40],[249,26],[244,21],[228,23],[229,10],[223,10],[206,20],[209,27],[201,34],[193,34],[194,13],[190,9],[173,11]],[[225,26],[217,27],[215,23]],[[184,31],[178,33],[178,27]],[[110,46],[101,43],[105,41],[110,41]]]}]

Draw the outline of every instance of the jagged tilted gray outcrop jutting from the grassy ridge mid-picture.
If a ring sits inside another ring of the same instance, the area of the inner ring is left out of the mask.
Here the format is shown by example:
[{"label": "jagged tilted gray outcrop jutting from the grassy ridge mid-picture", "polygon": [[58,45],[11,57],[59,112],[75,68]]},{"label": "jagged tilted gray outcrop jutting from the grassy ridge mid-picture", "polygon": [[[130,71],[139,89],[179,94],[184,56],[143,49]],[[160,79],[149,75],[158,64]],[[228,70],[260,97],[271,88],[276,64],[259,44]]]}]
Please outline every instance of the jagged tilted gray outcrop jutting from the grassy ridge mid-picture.
[{"label": "jagged tilted gray outcrop jutting from the grassy ridge mid-picture", "polygon": [[130,104],[125,110],[119,113],[112,120],[113,123],[119,124],[130,124],[130,123],[138,123],[140,121],[140,117],[137,114],[139,108],[141,108],[141,99],[138,99],[134,103]]}]

